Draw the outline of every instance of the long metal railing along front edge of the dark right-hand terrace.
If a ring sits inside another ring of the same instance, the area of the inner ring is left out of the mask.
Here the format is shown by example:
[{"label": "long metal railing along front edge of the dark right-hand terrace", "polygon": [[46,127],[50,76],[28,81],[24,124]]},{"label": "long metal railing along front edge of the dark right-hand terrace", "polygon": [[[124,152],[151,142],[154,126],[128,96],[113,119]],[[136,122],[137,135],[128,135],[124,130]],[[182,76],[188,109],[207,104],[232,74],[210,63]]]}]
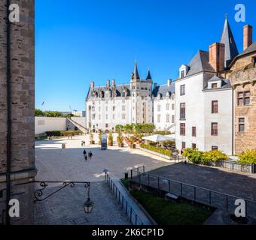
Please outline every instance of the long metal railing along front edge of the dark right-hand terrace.
[{"label": "long metal railing along front edge of the dark right-hand terrace", "polygon": [[[142,169],[142,171],[140,171],[140,169]],[[158,175],[151,175],[145,173],[145,166],[131,169],[130,177],[131,181],[141,185],[152,187],[155,190],[162,190],[166,193],[174,193],[185,199],[190,199],[194,202],[199,202],[215,208],[221,208],[232,214],[237,207],[237,205],[235,205],[236,199],[243,199],[245,201],[246,216],[256,217],[256,202],[254,199],[245,199],[244,197],[221,193],[216,190],[186,184],[181,181],[163,178]]]}]

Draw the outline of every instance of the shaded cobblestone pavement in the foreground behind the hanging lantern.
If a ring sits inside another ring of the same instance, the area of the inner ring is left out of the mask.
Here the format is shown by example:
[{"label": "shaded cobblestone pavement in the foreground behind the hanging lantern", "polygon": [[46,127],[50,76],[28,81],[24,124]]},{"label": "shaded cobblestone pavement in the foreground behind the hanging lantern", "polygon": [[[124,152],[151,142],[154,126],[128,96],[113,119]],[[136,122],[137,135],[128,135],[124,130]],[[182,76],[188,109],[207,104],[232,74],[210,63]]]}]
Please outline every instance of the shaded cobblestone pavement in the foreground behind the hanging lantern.
[{"label": "shaded cobblestone pavement in the foreground behind the hanging lantern", "polygon": [[[62,185],[59,185],[62,186]],[[49,187],[53,192],[58,187]],[[47,193],[46,192],[46,193]],[[120,205],[111,194],[105,181],[91,184],[90,195],[94,202],[93,211],[84,213],[87,192],[83,184],[66,187],[43,202],[35,204],[35,224],[37,225],[129,225]]]}]

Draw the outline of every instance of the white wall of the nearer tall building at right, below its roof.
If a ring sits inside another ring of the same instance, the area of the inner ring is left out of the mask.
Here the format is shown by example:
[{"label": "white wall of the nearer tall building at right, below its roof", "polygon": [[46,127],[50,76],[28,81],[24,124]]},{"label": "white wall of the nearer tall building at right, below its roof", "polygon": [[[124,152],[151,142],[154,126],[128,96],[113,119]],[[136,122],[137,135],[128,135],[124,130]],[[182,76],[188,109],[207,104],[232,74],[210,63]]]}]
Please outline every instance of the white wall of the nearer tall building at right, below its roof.
[{"label": "white wall of the nearer tall building at right, below its roof", "polygon": [[[181,150],[192,144],[201,151],[217,146],[226,154],[232,154],[232,89],[211,89],[203,91],[204,80],[209,75],[197,74],[175,81],[175,139],[176,148]],[[185,95],[181,96],[181,86],[185,85]],[[218,101],[218,113],[212,113],[212,101]],[[185,119],[180,119],[180,105],[185,103]],[[218,123],[218,136],[212,136],[212,123]],[[185,123],[185,136],[180,134],[180,124]],[[192,136],[196,127],[196,136]]]}]

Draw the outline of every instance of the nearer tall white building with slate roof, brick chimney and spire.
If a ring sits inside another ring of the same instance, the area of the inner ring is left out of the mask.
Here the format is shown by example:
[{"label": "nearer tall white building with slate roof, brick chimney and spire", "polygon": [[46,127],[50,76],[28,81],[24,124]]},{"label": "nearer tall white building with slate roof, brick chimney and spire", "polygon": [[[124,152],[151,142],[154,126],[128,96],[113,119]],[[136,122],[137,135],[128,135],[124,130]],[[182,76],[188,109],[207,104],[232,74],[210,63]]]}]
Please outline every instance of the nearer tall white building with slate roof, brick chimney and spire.
[{"label": "nearer tall white building with slate roof, brick chimney and spire", "polygon": [[219,149],[233,154],[233,97],[230,81],[221,77],[238,54],[227,19],[221,43],[199,50],[181,65],[175,80],[176,148]]}]

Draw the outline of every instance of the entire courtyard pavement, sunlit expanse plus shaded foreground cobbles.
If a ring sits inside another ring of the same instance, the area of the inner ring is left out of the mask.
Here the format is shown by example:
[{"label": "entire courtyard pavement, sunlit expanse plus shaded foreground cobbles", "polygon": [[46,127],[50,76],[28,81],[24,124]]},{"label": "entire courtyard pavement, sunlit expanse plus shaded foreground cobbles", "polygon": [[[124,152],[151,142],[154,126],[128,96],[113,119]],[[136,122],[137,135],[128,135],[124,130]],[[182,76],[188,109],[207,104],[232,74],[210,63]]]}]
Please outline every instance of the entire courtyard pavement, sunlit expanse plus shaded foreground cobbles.
[{"label": "entire courtyard pavement, sunlit expanse plus shaded foreground cobbles", "polygon": [[[129,224],[116,200],[105,184],[103,169],[112,178],[123,178],[124,172],[145,165],[156,169],[170,164],[168,160],[145,153],[139,149],[110,147],[101,151],[99,145],[88,144],[88,136],[73,139],[56,139],[35,142],[35,164],[38,181],[91,181],[91,199],[95,202],[92,214],[84,214],[86,192],[83,185],[66,187],[35,205],[36,224]],[[62,143],[66,149],[62,150]],[[93,159],[84,160],[83,151],[93,152]],[[56,187],[47,187],[49,193]]]}]

